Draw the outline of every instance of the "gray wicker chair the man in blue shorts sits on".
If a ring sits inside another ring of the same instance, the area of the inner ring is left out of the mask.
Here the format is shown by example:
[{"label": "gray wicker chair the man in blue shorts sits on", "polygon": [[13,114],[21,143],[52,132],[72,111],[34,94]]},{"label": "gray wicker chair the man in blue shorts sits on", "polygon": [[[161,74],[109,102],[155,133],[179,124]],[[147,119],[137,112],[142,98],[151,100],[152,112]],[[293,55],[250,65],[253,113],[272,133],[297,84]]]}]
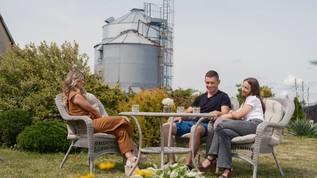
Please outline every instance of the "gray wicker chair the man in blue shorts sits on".
[{"label": "gray wicker chair the man in blue shorts sits on", "polygon": [[[234,99],[234,98],[230,98],[230,102],[231,102],[231,110],[236,111],[237,109],[239,109],[239,102],[238,100]],[[168,121],[171,121],[172,118],[169,118]],[[192,121],[192,119],[194,118],[188,118],[186,121]],[[184,121],[183,121],[184,122]],[[212,137],[214,136],[213,131],[214,131],[214,123],[215,121],[210,121],[208,123],[208,132],[207,132],[207,136],[204,138],[201,138],[200,140],[200,147],[199,150],[197,152],[198,154],[198,163],[200,162],[200,156],[206,158],[206,150],[210,149],[210,145],[212,142]],[[189,144],[189,138],[190,138],[190,133],[189,134],[185,134],[182,135],[180,137],[177,136],[173,136],[173,141],[174,141],[174,145],[175,147],[183,147],[183,148],[188,148],[188,144]]]}]

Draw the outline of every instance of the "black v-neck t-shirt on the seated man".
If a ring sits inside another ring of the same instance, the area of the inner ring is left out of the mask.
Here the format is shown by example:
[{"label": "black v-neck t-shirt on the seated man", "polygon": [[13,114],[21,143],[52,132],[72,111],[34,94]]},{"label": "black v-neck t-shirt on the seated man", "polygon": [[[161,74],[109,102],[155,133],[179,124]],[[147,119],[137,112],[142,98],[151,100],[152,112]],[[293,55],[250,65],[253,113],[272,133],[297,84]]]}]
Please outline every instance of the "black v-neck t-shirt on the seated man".
[{"label": "black v-neck t-shirt on the seated man", "polygon": [[[209,113],[211,111],[221,111],[221,106],[229,106],[231,108],[230,98],[227,93],[218,90],[216,94],[208,98],[208,92],[197,96],[191,107],[199,106],[200,113]],[[193,121],[198,122],[200,118],[194,118]],[[205,119],[202,123],[209,123],[210,120]]]}]

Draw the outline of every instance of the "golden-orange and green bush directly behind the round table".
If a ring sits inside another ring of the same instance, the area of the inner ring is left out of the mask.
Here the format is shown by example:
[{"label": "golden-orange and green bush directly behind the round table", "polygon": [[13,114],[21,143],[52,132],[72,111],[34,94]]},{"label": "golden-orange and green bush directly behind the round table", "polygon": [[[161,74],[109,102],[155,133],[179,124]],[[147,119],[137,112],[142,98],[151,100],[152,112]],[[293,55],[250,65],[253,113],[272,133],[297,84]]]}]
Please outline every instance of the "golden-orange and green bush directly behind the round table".
[{"label": "golden-orange and green bush directly behind the round table", "polygon": [[[149,89],[136,93],[128,102],[121,102],[118,106],[119,112],[131,112],[132,104],[140,105],[140,112],[163,112],[162,100],[169,98],[169,95],[164,89]],[[176,112],[175,105],[172,105],[172,112]],[[156,117],[136,117],[139,121],[142,130],[142,147],[159,146],[160,125],[159,118]],[[133,141],[139,140],[138,128],[133,119],[130,123],[134,129]],[[163,123],[167,122],[168,118],[163,118]]]}]

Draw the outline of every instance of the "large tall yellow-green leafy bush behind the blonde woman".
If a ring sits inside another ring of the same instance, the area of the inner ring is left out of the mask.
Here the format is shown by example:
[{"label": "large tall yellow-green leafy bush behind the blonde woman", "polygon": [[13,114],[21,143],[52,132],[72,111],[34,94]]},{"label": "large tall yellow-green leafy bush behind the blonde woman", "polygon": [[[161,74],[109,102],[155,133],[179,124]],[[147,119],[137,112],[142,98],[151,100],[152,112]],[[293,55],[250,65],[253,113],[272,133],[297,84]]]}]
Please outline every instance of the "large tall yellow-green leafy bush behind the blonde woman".
[{"label": "large tall yellow-green leafy bush behind the blonde woman", "polygon": [[34,43],[23,49],[12,45],[0,54],[0,112],[10,108],[23,108],[31,112],[33,122],[60,120],[55,106],[55,97],[61,93],[62,83],[71,70],[80,70],[86,75],[86,91],[94,94],[110,109],[117,109],[125,93],[120,83],[114,88],[105,81],[103,70],[90,72],[87,54],[78,53],[79,45],[64,43],[59,48],[56,43],[40,46]]}]

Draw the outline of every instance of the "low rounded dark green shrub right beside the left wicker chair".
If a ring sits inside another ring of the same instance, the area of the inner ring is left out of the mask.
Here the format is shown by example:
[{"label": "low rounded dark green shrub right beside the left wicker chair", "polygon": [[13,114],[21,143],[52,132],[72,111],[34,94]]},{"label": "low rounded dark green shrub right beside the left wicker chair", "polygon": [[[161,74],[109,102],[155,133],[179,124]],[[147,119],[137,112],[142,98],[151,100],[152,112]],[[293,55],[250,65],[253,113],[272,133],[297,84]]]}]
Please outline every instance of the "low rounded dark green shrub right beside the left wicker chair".
[{"label": "low rounded dark green shrub right beside the left wicker chair", "polygon": [[40,153],[65,153],[71,141],[67,140],[67,126],[56,121],[42,121],[26,127],[16,138],[18,145]]}]

